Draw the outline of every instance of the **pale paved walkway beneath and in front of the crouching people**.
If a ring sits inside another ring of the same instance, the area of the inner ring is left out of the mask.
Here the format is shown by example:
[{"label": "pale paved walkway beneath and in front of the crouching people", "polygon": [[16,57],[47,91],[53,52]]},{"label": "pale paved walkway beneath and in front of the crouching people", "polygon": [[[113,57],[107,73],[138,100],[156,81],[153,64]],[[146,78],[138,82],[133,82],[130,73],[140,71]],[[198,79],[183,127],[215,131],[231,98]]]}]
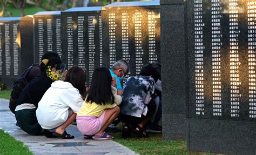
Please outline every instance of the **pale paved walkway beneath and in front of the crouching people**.
[{"label": "pale paved walkway beneath and in front of the crouching people", "polygon": [[14,114],[9,110],[9,100],[0,99],[0,129],[23,141],[35,154],[135,154],[127,147],[112,140],[87,140],[75,125],[66,130],[75,139],[46,138],[31,136],[15,125]]}]

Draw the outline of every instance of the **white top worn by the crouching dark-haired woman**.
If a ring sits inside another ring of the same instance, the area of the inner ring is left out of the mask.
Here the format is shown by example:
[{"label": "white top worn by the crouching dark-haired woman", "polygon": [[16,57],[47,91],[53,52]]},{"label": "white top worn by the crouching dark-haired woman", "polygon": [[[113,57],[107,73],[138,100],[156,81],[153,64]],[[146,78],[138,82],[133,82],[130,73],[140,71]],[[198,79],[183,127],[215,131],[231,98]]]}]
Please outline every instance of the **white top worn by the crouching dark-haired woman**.
[{"label": "white top worn by the crouching dark-haired woman", "polygon": [[83,104],[78,89],[69,82],[55,81],[38,103],[36,117],[43,129],[62,125],[69,116],[69,108],[77,113]]}]

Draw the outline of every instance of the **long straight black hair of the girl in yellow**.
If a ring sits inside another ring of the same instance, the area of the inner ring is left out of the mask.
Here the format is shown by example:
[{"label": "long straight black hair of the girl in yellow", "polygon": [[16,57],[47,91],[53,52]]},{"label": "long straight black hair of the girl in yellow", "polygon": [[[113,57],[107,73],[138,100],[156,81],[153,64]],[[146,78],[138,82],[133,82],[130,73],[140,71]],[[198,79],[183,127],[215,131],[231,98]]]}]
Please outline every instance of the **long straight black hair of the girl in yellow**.
[{"label": "long straight black hair of the girl in yellow", "polygon": [[87,102],[105,105],[113,104],[114,96],[111,91],[112,77],[109,69],[100,67],[93,71],[90,89],[88,91]]}]

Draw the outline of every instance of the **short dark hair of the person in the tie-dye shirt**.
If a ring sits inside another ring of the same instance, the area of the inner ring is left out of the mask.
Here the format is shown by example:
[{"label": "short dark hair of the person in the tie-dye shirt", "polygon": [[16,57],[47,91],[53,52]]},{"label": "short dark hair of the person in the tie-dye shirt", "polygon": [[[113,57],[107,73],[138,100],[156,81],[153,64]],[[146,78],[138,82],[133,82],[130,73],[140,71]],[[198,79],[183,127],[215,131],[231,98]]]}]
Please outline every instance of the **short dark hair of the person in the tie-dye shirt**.
[{"label": "short dark hair of the person in the tie-dye shirt", "polygon": [[154,82],[157,82],[158,77],[159,77],[156,66],[154,66],[152,64],[144,65],[143,68],[140,70],[139,75],[140,76],[152,76],[152,78],[154,79]]}]

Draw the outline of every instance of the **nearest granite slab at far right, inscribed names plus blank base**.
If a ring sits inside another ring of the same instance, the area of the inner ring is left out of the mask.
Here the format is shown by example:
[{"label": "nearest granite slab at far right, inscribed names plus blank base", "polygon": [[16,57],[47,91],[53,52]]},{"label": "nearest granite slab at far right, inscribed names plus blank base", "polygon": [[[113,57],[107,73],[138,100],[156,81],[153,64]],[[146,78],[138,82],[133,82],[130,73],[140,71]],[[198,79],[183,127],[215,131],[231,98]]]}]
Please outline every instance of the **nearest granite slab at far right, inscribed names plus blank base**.
[{"label": "nearest granite slab at far right, inscribed names plus blank base", "polygon": [[256,154],[256,2],[187,1],[187,148]]}]

